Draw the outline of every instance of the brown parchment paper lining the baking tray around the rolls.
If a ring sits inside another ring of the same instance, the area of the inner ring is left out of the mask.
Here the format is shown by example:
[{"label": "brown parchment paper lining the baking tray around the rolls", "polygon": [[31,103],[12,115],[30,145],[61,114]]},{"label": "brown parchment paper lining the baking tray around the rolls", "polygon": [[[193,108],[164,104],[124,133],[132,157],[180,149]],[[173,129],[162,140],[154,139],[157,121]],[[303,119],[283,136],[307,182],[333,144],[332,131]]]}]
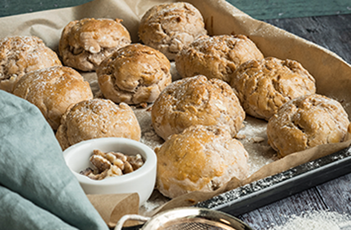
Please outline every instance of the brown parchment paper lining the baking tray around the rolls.
[{"label": "brown parchment paper lining the baking tray around the rolls", "polygon": [[[57,50],[62,29],[72,20],[90,18],[119,18],[131,34],[132,42],[140,42],[137,36],[139,20],[147,9],[156,4],[175,2],[141,1],[141,0],[95,0],[93,2],[60,10],[44,11],[26,15],[5,17],[0,19],[0,37],[10,35],[35,35],[52,48]],[[239,11],[224,0],[190,0],[186,1],[197,7],[202,13],[209,35],[244,34],[256,43],[265,57],[292,59],[300,62],[316,79],[317,93],[339,101],[346,112],[351,112],[351,94],[348,87],[351,85],[351,66],[336,54],[284,30],[267,23],[257,21]],[[98,93],[96,76],[94,73],[84,75],[89,79]],[[148,119],[140,116],[139,119]],[[249,121],[250,122],[250,121]],[[147,127],[147,129],[152,129]],[[143,135],[152,136],[152,130],[143,130]],[[254,133],[251,138],[254,138]],[[146,139],[148,138],[146,137]],[[248,137],[247,137],[248,138]],[[246,138],[246,139],[247,139]],[[265,137],[262,141],[266,142]],[[145,140],[145,139],[144,139]],[[145,140],[147,142],[147,140]],[[158,143],[160,144],[160,143]],[[250,141],[248,141],[250,145]],[[251,143],[252,144],[252,143]],[[266,143],[265,143],[266,144]],[[333,153],[349,146],[350,141],[338,144],[322,145],[306,151],[291,154],[285,158],[275,160],[261,167],[245,181],[236,178],[214,192],[194,192],[170,200],[163,206],[157,207],[153,213],[172,207],[193,205],[198,201],[206,200],[216,194],[233,189],[246,183],[279,173],[309,160]],[[266,144],[267,145],[267,144]],[[270,150],[271,151],[271,150]],[[265,153],[262,152],[264,155]]]}]

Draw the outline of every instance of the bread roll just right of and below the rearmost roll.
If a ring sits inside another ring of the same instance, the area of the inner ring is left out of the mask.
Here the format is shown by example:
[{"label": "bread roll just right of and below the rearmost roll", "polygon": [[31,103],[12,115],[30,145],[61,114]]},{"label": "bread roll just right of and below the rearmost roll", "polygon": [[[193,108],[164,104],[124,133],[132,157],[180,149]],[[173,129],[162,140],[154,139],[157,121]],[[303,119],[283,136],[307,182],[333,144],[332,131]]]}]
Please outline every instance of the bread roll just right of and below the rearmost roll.
[{"label": "bread roll just right of and below the rearmost roll", "polygon": [[201,36],[177,54],[175,66],[183,78],[201,74],[229,83],[242,63],[261,59],[261,51],[244,35]]}]

